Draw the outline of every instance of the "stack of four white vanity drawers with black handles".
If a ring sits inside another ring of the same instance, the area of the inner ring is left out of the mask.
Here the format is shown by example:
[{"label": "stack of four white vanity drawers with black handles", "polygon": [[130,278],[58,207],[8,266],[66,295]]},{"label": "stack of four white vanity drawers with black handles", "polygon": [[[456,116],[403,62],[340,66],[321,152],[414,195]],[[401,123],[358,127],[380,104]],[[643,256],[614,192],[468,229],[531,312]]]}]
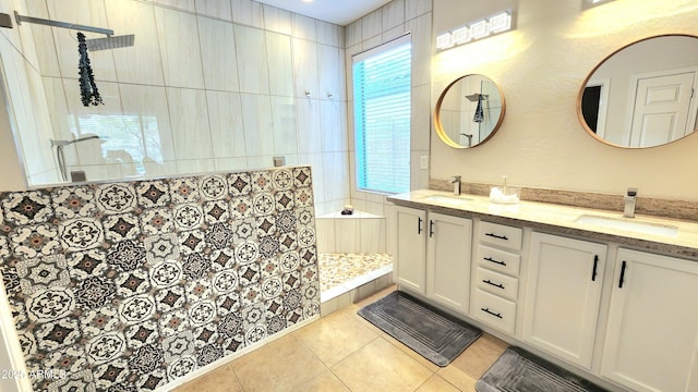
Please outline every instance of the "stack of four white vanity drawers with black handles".
[{"label": "stack of four white vanity drawers with black handles", "polygon": [[472,317],[514,333],[518,302],[520,228],[480,222],[473,286]]}]

